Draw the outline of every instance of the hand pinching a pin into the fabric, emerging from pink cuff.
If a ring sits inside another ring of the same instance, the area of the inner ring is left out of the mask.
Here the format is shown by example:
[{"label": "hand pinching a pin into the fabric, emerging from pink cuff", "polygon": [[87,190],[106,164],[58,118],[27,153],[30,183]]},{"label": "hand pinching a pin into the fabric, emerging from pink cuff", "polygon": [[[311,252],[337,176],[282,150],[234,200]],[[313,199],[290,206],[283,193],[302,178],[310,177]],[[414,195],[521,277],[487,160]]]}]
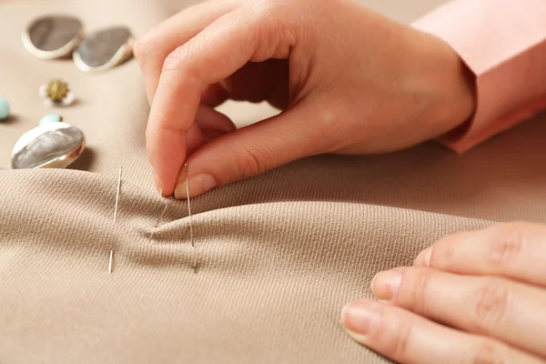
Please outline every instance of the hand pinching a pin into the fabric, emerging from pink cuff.
[{"label": "hand pinching a pin into the fabric, emerging from pink cuff", "polygon": [[[185,162],[196,196],[301,157],[410,147],[474,107],[449,45],[349,0],[207,1],[143,35],[135,54],[164,196],[186,197]],[[236,131],[214,109],[227,99],[284,111]]]}]

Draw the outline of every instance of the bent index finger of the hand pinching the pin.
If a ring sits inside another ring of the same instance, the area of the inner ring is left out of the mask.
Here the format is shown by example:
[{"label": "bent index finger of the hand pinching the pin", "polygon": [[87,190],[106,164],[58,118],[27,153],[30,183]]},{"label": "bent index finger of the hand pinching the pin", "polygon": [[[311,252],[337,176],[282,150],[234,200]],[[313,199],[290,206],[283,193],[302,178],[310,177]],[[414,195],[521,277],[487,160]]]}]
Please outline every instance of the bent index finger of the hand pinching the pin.
[{"label": "bent index finger of the hand pinching the pin", "polygon": [[[187,158],[185,135],[194,122],[202,92],[248,61],[279,56],[282,42],[263,36],[264,30],[269,35],[285,33],[270,32],[256,14],[239,7],[167,56],[147,126],[148,157],[166,196],[173,193]],[[288,56],[289,47],[283,48],[286,54],[280,56]]]}]

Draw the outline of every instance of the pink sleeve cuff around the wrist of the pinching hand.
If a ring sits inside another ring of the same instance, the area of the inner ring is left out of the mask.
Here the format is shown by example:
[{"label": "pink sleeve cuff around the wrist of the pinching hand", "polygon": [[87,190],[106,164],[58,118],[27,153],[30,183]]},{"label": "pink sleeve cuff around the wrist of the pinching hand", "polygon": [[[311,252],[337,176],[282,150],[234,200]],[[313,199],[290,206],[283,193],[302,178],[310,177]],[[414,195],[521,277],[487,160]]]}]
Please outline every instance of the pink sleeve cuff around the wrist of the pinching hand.
[{"label": "pink sleeve cuff around the wrist of the pinching hand", "polygon": [[546,108],[546,0],[455,0],[414,26],[450,44],[476,76],[468,126],[442,143],[462,153]]}]

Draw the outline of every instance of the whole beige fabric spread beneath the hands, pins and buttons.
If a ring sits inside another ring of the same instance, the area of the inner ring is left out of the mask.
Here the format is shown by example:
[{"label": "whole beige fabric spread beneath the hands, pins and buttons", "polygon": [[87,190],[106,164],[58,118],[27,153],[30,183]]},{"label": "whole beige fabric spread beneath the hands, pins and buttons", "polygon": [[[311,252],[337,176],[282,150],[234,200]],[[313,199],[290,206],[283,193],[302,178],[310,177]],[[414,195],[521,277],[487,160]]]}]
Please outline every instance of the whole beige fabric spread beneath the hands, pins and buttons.
[{"label": "whole beige fabric spread beneath the hands, pins and buttons", "polygon": [[[409,21],[435,2],[367,3]],[[155,229],[164,201],[147,164],[136,62],[89,76],[69,61],[27,55],[20,34],[34,15],[66,12],[88,31],[121,23],[138,35],[188,4],[0,1],[0,95],[15,114],[0,124],[0,166],[51,111],[37,96],[50,77],[66,79],[79,97],[62,114],[89,145],[71,170],[0,171],[0,362],[384,362],[339,324],[346,303],[370,297],[375,273],[409,264],[450,232],[544,221],[541,116],[460,157],[435,144],[314,157],[218,188],[193,201],[195,249],[185,203],[169,201]],[[241,125],[271,112],[223,109]]]}]

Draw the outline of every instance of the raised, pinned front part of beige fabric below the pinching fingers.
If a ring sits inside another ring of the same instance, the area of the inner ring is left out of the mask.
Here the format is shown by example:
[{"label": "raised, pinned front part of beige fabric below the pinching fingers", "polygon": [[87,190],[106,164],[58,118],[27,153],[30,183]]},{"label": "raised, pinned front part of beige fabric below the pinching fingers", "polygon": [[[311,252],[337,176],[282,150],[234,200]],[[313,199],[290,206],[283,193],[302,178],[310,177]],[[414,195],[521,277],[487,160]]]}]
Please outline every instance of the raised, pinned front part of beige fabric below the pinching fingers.
[{"label": "raised, pinned front part of beige fabric below the pinching fingers", "polygon": [[[381,363],[339,323],[375,273],[442,235],[490,225],[347,202],[197,214],[116,177],[0,172],[0,361]],[[36,204],[35,201],[40,203]],[[343,216],[343,219],[339,219]],[[108,274],[108,253],[114,270]],[[197,273],[192,268],[197,255]]]}]

